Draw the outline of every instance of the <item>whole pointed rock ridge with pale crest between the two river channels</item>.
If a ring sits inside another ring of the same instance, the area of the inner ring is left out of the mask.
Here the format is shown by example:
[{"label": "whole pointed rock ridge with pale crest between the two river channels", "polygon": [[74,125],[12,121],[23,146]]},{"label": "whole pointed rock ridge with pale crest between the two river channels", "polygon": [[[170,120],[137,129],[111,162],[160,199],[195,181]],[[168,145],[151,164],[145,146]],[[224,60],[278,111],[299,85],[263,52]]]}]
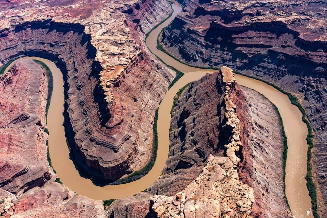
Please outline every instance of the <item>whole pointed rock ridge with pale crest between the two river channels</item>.
[{"label": "whole pointed rock ridge with pale crest between the two river channels", "polygon": [[290,217],[277,114],[259,93],[242,89],[227,67],[191,83],[173,108],[163,175],[147,193],[116,200],[110,217]]}]

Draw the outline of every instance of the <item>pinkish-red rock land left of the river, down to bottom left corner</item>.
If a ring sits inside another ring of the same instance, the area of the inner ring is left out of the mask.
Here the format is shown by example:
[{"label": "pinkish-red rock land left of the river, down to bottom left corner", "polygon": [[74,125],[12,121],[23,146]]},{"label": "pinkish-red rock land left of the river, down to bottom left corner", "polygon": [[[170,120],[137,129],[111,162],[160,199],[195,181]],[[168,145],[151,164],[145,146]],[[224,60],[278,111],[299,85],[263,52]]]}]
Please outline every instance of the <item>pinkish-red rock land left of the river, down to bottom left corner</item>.
[{"label": "pinkish-red rock land left of the river, down to bottom left corner", "polygon": [[0,77],[0,216],[101,217],[102,202],[54,182],[44,132],[45,73],[33,60],[22,59]]}]

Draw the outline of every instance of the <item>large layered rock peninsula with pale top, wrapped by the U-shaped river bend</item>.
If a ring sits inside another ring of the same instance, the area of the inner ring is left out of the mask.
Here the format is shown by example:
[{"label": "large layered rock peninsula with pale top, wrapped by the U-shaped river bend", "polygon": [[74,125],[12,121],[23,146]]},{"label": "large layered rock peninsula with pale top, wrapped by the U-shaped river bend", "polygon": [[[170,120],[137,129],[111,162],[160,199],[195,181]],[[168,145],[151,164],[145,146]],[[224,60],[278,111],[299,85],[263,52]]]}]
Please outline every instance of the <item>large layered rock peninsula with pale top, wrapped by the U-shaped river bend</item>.
[{"label": "large layered rock peninsula with pale top, wrapped by the U-shaped river bend", "polygon": [[[32,55],[58,61],[65,80],[65,127],[78,166],[95,182],[117,180],[151,156],[154,111],[174,75],[145,53],[140,28],[124,16],[136,14],[125,10],[129,3],[99,3],[102,10],[79,20],[68,11],[43,17],[53,8],[69,8],[53,4],[41,4],[38,13],[32,13],[33,5],[20,5],[23,12],[15,12],[15,19],[7,10],[0,60]],[[165,4],[132,5],[143,14],[140,19],[152,17],[142,23],[148,29],[168,9],[153,10]]]}]

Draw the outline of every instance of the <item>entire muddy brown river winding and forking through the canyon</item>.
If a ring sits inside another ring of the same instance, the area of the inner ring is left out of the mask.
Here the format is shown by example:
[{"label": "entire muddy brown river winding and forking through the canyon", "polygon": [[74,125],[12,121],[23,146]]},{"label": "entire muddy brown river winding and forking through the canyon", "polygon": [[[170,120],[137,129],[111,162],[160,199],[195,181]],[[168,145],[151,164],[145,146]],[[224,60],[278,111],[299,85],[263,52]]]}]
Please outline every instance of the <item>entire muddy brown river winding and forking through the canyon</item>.
[{"label": "entire muddy brown river winding and forking through the canyon", "polygon": [[[95,186],[90,179],[79,176],[72,160],[69,159],[69,150],[65,140],[64,127],[62,126],[64,119],[62,115],[64,103],[62,74],[56,65],[47,59],[26,57],[42,60],[52,71],[54,87],[47,117],[48,129],[50,132],[50,157],[52,165],[57,171],[57,175],[60,177],[62,183],[74,192],[97,200],[122,198],[145,190],[157,180],[158,176],[161,174],[168,157],[169,126],[171,119],[170,110],[173,97],[176,92],[187,83],[200,79],[206,73],[215,72],[215,70],[203,70],[182,64],[156,48],[157,36],[161,29],[168,25],[175,18],[177,13],[181,11],[181,7],[177,3],[174,3],[172,7],[174,9],[173,15],[149,34],[146,44],[153,54],[160,57],[166,64],[184,72],[185,75],[169,89],[159,106],[159,145],[157,160],[150,172],[139,180],[127,184],[99,187]],[[300,110],[291,104],[287,95],[279,92],[272,86],[242,75],[235,75],[235,77],[238,84],[264,94],[279,109],[284,122],[288,143],[285,177],[288,203],[295,218],[313,217],[311,212],[311,199],[306,188],[305,180],[308,148],[305,138],[308,132],[306,125],[302,122]]]}]

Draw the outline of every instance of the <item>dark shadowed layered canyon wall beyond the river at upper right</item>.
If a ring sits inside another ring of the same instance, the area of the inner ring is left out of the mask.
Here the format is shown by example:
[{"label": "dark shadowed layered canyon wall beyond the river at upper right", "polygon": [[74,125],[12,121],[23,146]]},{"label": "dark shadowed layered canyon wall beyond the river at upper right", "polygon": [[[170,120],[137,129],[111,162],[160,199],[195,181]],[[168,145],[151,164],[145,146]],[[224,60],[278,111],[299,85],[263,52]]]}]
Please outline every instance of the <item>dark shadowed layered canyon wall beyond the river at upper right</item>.
[{"label": "dark shadowed layered canyon wall beyond the river at upper right", "polygon": [[318,210],[326,216],[326,2],[192,0],[182,4],[183,11],[163,31],[161,42],[169,53],[201,67],[233,67],[301,98],[316,133]]}]

